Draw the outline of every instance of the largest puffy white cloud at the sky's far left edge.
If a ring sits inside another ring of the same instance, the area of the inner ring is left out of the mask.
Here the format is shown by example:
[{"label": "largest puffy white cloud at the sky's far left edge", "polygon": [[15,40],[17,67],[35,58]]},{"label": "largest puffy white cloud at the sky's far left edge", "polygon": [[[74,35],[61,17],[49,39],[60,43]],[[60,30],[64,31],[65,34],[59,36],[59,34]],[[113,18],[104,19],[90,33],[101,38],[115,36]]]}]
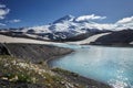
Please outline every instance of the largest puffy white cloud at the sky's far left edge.
[{"label": "largest puffy white cloud at the sky's far left edge", "polygon": [[4,4],[0,4],[0,20],[4,19],[9,12],[10,9],[8,9]]}]

